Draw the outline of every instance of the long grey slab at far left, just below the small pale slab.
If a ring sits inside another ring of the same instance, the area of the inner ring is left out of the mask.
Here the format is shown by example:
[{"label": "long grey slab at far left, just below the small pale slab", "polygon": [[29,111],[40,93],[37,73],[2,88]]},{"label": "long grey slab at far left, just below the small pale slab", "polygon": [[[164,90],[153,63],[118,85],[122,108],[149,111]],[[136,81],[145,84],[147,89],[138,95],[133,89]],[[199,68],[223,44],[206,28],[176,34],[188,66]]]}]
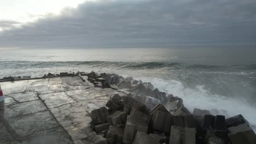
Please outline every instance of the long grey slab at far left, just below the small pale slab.
[{"label": "long grey slab at far left, just below the small pale slab", "polygon": [[47,110],[47,108],[41,100],[33,100],[15,105],[9,105],[5,107],[4,113],[5,118],[12,118],[44,110]]}]

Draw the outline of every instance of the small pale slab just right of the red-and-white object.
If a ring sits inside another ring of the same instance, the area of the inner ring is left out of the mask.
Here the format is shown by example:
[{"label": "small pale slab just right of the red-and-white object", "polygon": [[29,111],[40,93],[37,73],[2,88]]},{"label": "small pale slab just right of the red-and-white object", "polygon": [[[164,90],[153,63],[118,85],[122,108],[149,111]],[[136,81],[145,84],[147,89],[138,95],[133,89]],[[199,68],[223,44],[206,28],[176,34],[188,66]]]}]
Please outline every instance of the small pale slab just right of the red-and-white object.
[{"label": "small pale slab just right of the red-and-white object", "polygon": [[37,100],[37,94],[34,92],[23,92],[23,93],[15,93],[8,94],[9,97],[15,99],[18,102]]}]

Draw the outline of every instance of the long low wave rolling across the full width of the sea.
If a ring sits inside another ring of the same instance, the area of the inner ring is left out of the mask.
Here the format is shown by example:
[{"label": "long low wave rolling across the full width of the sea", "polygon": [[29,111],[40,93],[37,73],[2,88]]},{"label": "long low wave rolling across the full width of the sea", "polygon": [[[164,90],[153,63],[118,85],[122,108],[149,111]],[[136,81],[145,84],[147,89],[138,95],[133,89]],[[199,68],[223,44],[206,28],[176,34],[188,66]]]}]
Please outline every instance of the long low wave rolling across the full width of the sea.
[{"label": "long low wave rolling across the full width of the sea", "polygon": [[[209,73],[219,73],[220,70],[241,69],[241,70],[256,70],[256,64],[251,65],[205,65],[205,64],[185,64],[173,62],[111,62],[111,61],[1,61],[2,68],[24,68],[24,67],[79,67],[81,65],[94,66],[94,67],[118,67],[122,69],[200,69],[210,71]],[[213,70],[211,72],[211,70]],[[217,71],[217,72],[216,72]],[[240,72],[238,72],[240,73]],[[223,74],[238,74],[238,73],[225,73]],[[252,72],[251,72],[252,73]],[[243,74],[243,72],[241,72]]]}]

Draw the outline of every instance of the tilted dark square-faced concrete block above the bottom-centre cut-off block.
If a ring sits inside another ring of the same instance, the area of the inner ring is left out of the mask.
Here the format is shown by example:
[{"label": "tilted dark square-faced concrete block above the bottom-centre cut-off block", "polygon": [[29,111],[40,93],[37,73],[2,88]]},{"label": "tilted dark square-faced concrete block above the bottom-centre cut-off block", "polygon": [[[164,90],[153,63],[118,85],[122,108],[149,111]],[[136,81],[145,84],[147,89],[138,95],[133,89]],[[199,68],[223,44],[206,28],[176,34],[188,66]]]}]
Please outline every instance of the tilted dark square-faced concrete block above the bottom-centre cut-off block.
[{"label": "tilted dark square-faced concrete block above the bottom-centre cut-off block", "polygon": [[173,118],[170,113],[156,111],[154,121],[153,121],[153,129],[158,131],[163,131],[165,133],[170,133],[171,127],[173,125]]}]

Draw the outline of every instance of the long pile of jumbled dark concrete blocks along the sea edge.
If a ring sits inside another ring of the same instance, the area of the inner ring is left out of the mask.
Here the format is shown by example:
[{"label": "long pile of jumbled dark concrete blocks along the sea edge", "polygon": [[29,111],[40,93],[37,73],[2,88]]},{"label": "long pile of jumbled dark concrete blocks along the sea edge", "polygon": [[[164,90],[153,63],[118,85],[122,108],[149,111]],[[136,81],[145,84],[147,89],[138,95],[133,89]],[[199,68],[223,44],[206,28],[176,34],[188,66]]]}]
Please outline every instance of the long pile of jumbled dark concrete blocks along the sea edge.
[{"label": "long pile of jumbled dark concrete blocks along the sea edge", "polygon": [[256,136],[242,115],[226,119],[226,111],[195,109],[160,92],[152,83],[117,74],[88,74],[95,87],[118,92],[106,106],[91,111],[91,128],[102,136],[96,143],[255,143]]}]

